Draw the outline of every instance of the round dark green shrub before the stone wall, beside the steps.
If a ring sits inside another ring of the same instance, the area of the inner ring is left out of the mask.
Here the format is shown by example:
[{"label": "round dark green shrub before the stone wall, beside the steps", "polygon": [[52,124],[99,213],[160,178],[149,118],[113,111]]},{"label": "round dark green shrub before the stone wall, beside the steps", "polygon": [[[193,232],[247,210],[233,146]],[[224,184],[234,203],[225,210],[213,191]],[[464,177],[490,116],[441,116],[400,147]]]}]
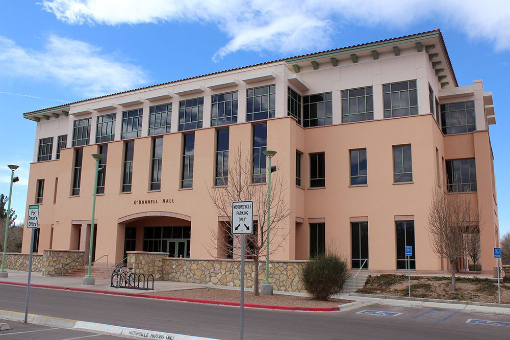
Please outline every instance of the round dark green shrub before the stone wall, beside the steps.
[{"label": "round dark green shrub before the stone wall, beside the steps", "polygon": [[304,264],[299,277],[314,299],[327,300],[342,291],[349,276],[347,262],[333,252],[326,252]]}]

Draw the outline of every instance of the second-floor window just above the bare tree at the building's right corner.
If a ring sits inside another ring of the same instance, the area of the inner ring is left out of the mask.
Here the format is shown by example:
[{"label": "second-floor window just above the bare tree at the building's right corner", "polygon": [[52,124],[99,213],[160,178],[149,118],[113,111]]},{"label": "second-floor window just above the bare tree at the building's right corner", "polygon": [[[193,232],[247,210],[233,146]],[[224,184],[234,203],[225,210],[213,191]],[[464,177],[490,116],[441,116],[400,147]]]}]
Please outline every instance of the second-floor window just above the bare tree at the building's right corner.
[{"label": "second-floor window just above the bare tree at the building's right corner", "polygon": [[475,159],[446,161],[448,192],[476,191]]}]

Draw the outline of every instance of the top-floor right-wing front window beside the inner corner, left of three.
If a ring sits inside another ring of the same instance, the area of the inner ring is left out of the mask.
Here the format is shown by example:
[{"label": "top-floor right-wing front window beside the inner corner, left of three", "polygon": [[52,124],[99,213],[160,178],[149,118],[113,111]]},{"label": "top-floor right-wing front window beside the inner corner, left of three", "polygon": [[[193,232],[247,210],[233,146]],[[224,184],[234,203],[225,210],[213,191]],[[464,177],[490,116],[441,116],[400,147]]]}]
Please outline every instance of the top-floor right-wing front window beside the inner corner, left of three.
[{"label": "top-floor right-wing front window beside the inner corner, left of three", "polygon": [[303,97],[303,126],[333,124],[331,92]]}]

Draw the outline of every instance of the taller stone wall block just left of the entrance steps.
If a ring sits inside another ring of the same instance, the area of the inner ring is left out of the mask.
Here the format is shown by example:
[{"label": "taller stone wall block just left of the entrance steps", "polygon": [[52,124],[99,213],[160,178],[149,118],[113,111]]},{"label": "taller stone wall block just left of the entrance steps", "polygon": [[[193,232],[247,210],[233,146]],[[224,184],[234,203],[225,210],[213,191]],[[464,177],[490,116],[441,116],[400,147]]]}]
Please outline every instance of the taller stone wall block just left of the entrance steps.
[{"label": "taller stone wall block just left of the entrance steps", "polygon": [[82,250],[44,250],[42,256],[43,276],[64,276],[85,265],[85,252]]}]

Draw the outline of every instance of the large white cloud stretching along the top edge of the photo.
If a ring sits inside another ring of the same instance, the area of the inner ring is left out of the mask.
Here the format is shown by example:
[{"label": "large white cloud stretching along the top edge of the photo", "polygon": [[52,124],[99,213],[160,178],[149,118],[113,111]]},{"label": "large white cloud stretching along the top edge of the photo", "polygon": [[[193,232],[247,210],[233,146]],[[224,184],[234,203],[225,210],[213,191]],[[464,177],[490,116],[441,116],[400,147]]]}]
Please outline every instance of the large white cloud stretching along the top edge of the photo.
[{"label": "large white cloud stretching along the top edge of the photo", "polygon": [[[496,49],[510,49],[510,2],[494,0],[45,0],[44,9],[71,24],[188,21],[216,24],[231,40],[213,59],[237,50],[298,53],[328,46],[342,27],[406,27],[439,18]],[[435,29],[435,28],[431,28]]]}]

